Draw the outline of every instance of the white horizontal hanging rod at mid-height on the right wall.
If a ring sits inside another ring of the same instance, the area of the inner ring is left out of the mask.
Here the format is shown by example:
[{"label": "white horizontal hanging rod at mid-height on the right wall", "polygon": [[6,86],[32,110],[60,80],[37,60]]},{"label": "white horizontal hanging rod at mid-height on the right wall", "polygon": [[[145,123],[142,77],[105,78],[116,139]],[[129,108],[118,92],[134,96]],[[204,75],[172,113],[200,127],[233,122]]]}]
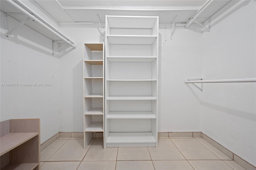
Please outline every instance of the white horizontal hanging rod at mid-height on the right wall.
[{"label": "white horizontal hanging rod at mid-height on the right wall", "polygon": [[256,78],[185,81],[185,83],[246,83],[246,82],[256,82]]}]

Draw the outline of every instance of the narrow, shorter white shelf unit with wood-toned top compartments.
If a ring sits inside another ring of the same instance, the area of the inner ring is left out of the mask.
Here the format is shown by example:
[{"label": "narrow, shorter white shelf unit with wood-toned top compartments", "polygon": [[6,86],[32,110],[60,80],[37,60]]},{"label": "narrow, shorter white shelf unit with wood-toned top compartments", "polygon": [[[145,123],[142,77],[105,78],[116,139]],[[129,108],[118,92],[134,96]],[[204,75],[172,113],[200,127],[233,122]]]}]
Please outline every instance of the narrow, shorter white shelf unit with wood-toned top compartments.
[{"label": "narrow, shorter white shelf unit with wood-toned top compartments", "polygon": [[104,54],[104,43],[84,44],[84,148],[104,132]]}]

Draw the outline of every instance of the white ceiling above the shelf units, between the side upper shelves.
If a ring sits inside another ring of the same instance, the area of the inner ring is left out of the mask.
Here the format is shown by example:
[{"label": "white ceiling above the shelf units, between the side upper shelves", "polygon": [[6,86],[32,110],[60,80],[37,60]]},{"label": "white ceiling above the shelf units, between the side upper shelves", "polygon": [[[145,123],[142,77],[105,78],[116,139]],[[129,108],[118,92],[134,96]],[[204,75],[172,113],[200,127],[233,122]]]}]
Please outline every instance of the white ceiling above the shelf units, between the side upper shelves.
[{"label": "white ceiling above the shelf units, between the side upper shelves", "polygon": [[[186,23],[206,0],[34,0],[58,22],[105,22],[105,15],[159,16]],[[98,14],[98,16],[97,16]]]}]

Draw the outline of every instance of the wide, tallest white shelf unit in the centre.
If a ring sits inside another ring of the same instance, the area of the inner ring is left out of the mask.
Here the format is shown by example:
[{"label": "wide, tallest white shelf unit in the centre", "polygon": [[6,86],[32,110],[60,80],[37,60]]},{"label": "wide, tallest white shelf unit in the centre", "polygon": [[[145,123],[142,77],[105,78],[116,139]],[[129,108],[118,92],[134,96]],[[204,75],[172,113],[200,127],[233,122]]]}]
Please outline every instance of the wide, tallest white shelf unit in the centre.
[{"label": "wide, tallest white shelf unit in the centre", "polygon": [[105,146],[157,146],[158,16],[106,16],[105,40]]}]

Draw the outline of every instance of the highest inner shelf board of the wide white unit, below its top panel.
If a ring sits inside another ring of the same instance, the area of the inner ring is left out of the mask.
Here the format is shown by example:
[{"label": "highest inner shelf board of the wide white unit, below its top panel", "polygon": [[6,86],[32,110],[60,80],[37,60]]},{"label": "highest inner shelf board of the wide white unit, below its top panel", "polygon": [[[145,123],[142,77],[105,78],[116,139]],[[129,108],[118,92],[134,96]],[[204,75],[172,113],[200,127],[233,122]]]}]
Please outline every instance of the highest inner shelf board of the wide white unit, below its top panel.
[{"label": "highest inner shelf board of the wide white unit, below its top panel", "polygon": [[157,36],[107,35],[111,44],[152,44]]}]

